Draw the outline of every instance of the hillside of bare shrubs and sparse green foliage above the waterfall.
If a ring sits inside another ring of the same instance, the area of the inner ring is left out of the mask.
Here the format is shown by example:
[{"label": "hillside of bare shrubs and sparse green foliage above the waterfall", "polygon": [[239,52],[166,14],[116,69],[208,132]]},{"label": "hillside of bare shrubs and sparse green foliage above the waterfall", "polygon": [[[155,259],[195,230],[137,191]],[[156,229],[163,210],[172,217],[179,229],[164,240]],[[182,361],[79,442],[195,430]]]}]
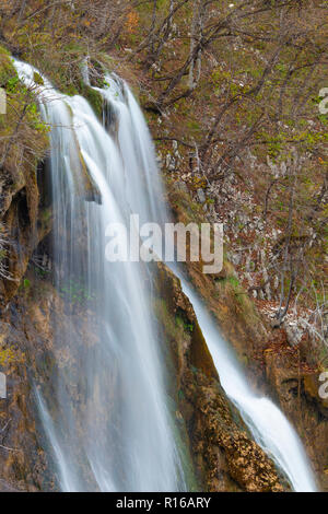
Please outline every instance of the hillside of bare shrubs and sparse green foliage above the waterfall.
[{"label": "hillside of bare shrubs and sparse green foliage above the waterfall", "polygon": [[[327,86],[325,3],[75,0],[72,9],[68,1],[12,0],[2,2],[0,33],[11,51],[61,91],[83,94],[98,114],[99,96],[81,81],[85,58],[97,85],[104,81],[102,62],[131,77],[162,155],[172,153],[173,141],[178,145],[169,179],[188,177],[191,194],[207,190],[206,207],[214,220],[224,219],[232,254],[253,244],[253,292],[265,294],[261,284],[278,276],[276,301],[289,304],[302,291],[298,302],[315,307],[311,284],[319,294],[327,277],[327,115],[318,108]],[[26,92],[4,50],[0,60],[0,85],[17,109]],[[33,104],[30,97],[24,136],[31,141],[33,130],[43,147],[46,128]],[[232,182],[253,202],[250,211],[244,201],[226,203],[230,212],[238,210],[235,217],[218,211],[221,191]],[[181,197],[174,202],[190,219],[203,214]],[[257,234],[237,220],[254,213],[263,225]],[[279,234],[274,241],[272,231]],[[256,255],[263,249],[268,279]],[[245,267],[244,258],[239,271]],[[284,309],[278,315],[282,319]]]}]

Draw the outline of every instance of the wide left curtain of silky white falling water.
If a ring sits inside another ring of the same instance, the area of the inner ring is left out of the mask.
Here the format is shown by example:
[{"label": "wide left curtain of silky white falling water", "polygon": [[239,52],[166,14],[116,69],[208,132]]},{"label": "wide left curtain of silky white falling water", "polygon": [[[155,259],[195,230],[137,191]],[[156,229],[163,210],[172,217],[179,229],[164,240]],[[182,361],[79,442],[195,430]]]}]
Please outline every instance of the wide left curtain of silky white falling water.
[{"label": "wide left curtain of silky white falling water", "polygon": [[[85,100],[59,94],[46,79],[34,84],[34,68],[17,61],[15,67],[36,89],[51,127],[54,260],[57,289],[71,309],[70,322],[56,334],[55,397],[37,394],[60,487],[184,490],[147,270],[139,262],[105,259],[107,225],[127,224],[131,211],[124,149],[119,152]],[[138,142],[126,138],[136,168],[142,159]],[[90,305],[84,319],[81,300]]]}]

